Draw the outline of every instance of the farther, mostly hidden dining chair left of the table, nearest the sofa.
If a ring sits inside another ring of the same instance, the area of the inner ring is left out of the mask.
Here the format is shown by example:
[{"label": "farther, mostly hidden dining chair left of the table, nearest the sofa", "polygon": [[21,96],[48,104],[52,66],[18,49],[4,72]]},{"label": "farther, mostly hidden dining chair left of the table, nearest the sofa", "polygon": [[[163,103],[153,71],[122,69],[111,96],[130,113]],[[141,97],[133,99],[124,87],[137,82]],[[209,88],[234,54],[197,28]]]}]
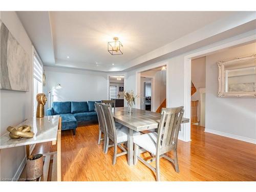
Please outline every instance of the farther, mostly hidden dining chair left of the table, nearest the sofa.
[{"label": "farther, mostly hidden dining chair left of the table, nearest the sofa", "polygon": [[[95,109],[98,116],[98,122],[99,122],[99,139],[98,139],[98,145],[100,144],[100,141],[103,140],[103,151],[106,150],[106,126],[104,122],[103,112],[101,110],[101,103],[95,102]],[[103,134],[103,138],[102,138]]]}]

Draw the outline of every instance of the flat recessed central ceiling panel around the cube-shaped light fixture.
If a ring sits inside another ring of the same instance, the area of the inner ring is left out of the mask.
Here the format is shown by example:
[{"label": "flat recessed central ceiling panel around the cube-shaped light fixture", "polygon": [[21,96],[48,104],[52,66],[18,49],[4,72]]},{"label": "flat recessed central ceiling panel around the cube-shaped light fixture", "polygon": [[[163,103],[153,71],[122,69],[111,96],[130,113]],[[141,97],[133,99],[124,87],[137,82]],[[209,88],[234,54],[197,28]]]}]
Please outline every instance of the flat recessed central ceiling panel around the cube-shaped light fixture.
[{"label": "flat recessed central ceiling panel around the cube-shaped light fixture", "polygon": [[[231,12],[50,12],[55,57],[91,65],[123,65]],[[123,55],[108,41],[119,37]],[[68,59],[67,56],[70,58]]]}]

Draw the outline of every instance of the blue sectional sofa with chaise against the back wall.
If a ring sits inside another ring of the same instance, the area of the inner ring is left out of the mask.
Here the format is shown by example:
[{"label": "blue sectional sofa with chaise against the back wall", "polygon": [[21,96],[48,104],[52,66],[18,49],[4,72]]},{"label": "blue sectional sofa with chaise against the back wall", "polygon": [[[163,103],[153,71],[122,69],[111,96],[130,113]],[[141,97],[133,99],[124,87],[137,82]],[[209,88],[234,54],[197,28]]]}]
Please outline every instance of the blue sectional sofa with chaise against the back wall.
[{"label": "blue sectional sofa with chaise against the back wall", "polygon": [[73,130],[73,135],[76,134],[78,122],[98,121],[97,113],[95,112],[95,102],[100,101],[67,101],[53,102],[52,108],[47,109],[46,114],[61,116],[61,130]]}]

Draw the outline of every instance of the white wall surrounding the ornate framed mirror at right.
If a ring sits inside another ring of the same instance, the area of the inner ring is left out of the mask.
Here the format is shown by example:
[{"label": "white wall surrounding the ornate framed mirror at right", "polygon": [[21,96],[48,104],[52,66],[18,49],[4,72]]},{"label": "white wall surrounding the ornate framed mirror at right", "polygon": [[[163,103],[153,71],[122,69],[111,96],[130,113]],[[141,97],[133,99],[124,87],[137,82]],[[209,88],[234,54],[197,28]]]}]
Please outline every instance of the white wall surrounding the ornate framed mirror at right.
[{"label": "white wall surrounding the ornate framed mirror at right", "polygon": [[256,99],[217,97],[217,62],[250,55],[255,51],[254,43],[206,56],[206,132],[221,132],[256,140]]}]

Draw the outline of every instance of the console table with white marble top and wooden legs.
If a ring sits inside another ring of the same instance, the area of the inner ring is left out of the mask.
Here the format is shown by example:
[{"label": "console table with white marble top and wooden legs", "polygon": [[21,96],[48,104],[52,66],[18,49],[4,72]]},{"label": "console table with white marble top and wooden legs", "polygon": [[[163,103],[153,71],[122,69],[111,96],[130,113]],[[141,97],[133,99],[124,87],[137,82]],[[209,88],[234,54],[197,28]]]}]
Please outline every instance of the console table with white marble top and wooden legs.
[{"label": "console table with white marble top and wooden legs", "polygon": [[61,117],[59,115],[45,116],[44,118],[29,118],[17,125],[31,126],[31,131],[34,132],[33,138],[11,139],[9,132],[0,137],[0,150],[16,146],[26,146],[27,158],[30,155],[29,145],[49,142],[57,144],[57,151],[53,153],[43,154],[44,156],[44,174],[39,178],[39,181],[47,181],[49,174],[50,160],[52,163],[52,181],[61,181]]}]

